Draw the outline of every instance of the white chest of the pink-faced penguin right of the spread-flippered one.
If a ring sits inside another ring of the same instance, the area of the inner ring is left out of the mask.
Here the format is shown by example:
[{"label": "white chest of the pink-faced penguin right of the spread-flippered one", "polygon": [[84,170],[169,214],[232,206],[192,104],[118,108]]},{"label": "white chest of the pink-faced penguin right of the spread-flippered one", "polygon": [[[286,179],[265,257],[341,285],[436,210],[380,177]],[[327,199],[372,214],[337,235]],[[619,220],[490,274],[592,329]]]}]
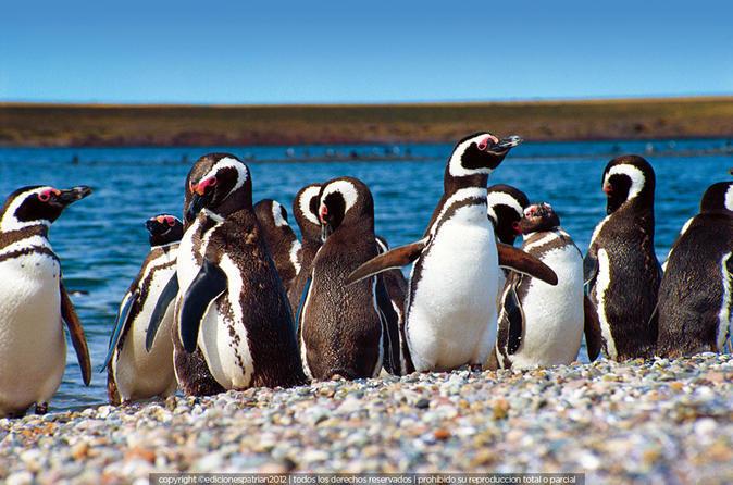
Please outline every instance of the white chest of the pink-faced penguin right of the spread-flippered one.
[{"label": "white chest of the pink-faced penguin right of the spread-flippered one", "polygon": [[573,245],[552,249],[542,261],[558,276],[556,286],[533,278],[522,300],[523,339],[512,368],[568,364],[583,336],[583,259]]}]

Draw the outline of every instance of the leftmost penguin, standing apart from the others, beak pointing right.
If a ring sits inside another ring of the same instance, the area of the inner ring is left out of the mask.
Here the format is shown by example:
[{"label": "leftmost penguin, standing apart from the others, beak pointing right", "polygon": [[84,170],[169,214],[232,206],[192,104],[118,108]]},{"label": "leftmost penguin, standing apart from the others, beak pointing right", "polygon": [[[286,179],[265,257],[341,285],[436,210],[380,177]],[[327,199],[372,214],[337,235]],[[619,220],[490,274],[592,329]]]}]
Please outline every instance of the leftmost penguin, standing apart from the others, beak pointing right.
[{"label": "leftmost penguin, standing apart from the others, beak pointing right", "polygon": [[51,223],[89,187],[59,190],[23,187],[0,211],[0,418],[45,413],[66,365],[63,323],[71,335],[84,384],[91,380],[82,323],[48,239]]}]

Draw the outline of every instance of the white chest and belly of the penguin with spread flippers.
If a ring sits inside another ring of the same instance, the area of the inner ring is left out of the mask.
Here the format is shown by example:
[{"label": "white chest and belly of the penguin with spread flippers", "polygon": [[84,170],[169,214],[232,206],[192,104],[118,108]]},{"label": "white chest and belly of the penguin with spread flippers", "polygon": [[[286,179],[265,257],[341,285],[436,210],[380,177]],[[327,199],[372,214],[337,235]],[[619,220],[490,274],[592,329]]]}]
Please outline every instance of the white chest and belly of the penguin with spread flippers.
[{"label": "white chest and belly of the penguin with spread flippers", "polygon": [[483,364],[496,340],[499,271],[485,206],[459,208],[419,263],[422,271],[407,314],[415,370]]}]

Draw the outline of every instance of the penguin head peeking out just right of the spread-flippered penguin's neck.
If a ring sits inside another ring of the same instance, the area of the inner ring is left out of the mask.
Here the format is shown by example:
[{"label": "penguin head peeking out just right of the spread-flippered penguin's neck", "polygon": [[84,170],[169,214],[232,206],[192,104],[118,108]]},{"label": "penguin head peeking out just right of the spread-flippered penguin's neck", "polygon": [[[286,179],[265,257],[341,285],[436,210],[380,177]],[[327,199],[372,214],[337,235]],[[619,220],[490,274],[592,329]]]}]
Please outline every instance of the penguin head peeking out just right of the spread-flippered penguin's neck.
[{"label": "penguin head peeking out just right of the spread-flippered penguin's neck", "polygon": [[517,236],[522,234],[519,222],[524,215],[524,208],[529,204],[526,195],[515,187],[504,184],[488,187],[486,212],[501,242],[513,245]]}]

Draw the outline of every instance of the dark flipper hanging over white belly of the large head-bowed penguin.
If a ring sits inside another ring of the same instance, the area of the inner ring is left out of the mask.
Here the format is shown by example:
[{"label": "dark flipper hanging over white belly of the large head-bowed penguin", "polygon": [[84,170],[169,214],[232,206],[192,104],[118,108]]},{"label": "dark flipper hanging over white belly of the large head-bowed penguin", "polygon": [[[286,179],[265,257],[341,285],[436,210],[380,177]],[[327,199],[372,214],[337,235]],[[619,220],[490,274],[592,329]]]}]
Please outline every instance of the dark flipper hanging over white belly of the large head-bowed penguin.
[{"label": "dark flipper hanging over white belly of the large head-bowed penguin", "polygon": [[181,302],[181,341],[187,352],[196,351],[201,320],[209,306],[226,291],[227,286],[226,273],[204,258],[199,274]]}]

